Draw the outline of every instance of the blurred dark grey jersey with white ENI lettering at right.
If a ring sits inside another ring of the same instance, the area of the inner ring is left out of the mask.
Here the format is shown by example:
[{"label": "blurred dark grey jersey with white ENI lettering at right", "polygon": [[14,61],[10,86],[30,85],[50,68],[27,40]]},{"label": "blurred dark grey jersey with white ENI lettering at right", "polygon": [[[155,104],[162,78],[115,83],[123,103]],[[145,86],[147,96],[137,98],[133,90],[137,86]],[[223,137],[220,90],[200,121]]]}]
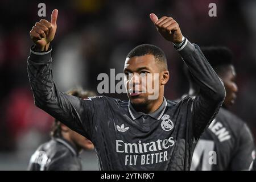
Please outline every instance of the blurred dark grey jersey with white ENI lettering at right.
[{"label": "blurred dark grey jersey with white ENI lettering at right", "polygon": [[197,143],[191,170],[247,170],[253,151],[253,136],[246,123],[221,108]]}]

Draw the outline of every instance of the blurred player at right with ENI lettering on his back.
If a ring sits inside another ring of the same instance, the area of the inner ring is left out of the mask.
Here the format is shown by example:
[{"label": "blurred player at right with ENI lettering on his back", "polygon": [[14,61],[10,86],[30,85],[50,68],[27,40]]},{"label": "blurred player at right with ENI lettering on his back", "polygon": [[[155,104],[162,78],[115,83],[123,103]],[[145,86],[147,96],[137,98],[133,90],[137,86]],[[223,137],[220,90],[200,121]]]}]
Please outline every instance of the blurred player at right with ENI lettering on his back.
[{"label": "blurred player at right with ENI lettering on his back", "polygon": [[[234,104],[238,91],[232,53],[225,47],[201,50],[224,82],[226,98],[216,118],[197,143],[191,170],[247,170],[253,160],[253,137],[246,123],[227,110]],[[201,90],[186,68],[185,73],[190,84],[189,95],[196,96]]]}]

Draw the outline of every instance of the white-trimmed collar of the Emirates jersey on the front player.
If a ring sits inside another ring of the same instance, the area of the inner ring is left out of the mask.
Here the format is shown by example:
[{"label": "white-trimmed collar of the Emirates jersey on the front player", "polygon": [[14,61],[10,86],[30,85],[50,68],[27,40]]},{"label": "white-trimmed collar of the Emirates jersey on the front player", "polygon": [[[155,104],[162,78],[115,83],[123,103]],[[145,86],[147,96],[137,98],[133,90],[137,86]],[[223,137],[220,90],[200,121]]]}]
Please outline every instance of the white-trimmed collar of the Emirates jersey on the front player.
[{"label": "white-trimmed collar of the Emirates jersey on the front player", "polygon": [[162,115],[164,114],[164,111],[166,110],[166,106],[167,106],[167,101],[166,101],[166,98],[164,98],[163,103],[160,105],[160,107],[158,107],[158,109],[156,109],[156,111],[154,111],[154,113],[144,114],[142,112],[137,112],[134,109],[131,102],[129,101],[128,110],[129,110],[129,113],[131,115],[131,118],[133,118],[133,120],[138,119],[142,115],[149,115],[151,118],[159,120],[162,117]]}]

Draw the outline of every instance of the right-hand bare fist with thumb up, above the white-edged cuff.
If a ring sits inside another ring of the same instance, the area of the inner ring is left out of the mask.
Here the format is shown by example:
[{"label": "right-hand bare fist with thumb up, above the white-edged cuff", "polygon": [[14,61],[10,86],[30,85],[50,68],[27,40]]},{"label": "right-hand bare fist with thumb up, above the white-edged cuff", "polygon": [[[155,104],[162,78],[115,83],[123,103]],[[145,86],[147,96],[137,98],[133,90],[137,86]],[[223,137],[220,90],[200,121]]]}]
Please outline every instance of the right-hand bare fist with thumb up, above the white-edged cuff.
[{"label": "right-hand bare fist with thumb up, above the white-edged cuff", "polygon": [[171,17],[163,16],[158,19],[154,13],[150,14],[151,21],[155,24],[156,29],[164,39],[179,44],[182,42],[183,35],[181,34],[179,24]]}]

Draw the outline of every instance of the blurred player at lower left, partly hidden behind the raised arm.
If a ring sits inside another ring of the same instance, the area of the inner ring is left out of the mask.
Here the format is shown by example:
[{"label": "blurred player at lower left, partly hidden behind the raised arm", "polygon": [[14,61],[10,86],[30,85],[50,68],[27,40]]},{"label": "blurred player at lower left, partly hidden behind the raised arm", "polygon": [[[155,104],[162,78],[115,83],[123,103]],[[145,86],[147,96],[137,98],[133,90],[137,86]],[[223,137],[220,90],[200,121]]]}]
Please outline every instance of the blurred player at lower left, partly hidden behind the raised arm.
[{"label": "blurred player at lower left, partly hidden behind the raised arm", "polygon": [[[68,94],[79,98],[95,96],[91,92],[79,89]],[[69,129],[55,119],[51,132],[52,139],[42,144],[31,156],[30,171],[80,171],[82,170],[79,154],[82,150],[93,150],[90,140]]]}]

